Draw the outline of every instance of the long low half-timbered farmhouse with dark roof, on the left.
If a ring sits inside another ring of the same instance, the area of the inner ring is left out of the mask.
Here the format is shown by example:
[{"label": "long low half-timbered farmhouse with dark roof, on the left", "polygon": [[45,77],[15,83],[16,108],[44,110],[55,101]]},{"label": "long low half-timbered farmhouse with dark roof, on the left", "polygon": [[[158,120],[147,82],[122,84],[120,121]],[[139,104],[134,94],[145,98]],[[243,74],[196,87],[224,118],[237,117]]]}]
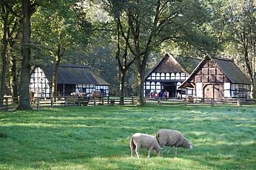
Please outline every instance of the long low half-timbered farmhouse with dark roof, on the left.
[{"label": "long low half-timbered farmhouse with dark roof, on the left", "polygon": [[[36,96],[50,97],[52,80],[53,66],[36,67],[30,75],[30,92],[35,92]],[[70,95],[72,92],[91,94],[93,90],[100,90],[102,95],[109,95],[110,84],[92,74],[87,66],[60,64],[57,78],[58,95]]]}]

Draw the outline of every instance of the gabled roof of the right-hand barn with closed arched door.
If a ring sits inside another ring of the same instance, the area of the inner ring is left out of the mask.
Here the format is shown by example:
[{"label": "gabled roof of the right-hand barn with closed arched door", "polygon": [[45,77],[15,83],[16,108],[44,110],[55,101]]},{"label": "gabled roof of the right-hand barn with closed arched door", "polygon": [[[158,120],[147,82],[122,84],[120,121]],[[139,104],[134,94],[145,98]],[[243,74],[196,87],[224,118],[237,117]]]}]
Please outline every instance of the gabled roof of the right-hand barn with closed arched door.
[{"label": "gabled roof of the right-hand barn with closed arched door", "polygon": [[189,83],[189,81],[191,81],[192,78],[195,77],[195,74],[199,71],[199,69],[203,67],[203,65],[208,60],[215,61],[220,70],[223,72],[224,75],[226,75],[226,78],[228,78],[232,84],[252,84],[250,79],[240,70],[240,68],[235,64],[232,59],[206,56],[194,69],[191,75],[189,75],[189,78],[187,78],[186,81],[183,81],[179,88],[185,87],[185,84]]}]

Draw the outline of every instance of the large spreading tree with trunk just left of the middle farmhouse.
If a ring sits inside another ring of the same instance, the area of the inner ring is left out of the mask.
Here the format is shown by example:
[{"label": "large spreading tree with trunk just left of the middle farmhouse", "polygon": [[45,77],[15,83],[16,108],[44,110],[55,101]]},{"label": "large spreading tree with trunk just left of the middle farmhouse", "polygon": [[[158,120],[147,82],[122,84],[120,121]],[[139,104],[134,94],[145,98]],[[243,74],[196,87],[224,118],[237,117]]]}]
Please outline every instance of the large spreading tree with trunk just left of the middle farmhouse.
[{"label": "large spreading tree with trunk just left of the middle farmhouse", "polygon": [[[203,22],[204,13],[199,1],[193,0],[126,2],[119,27],[129,51],[135,56],[137,104],[144,105],[143,85],[149,54],[165,41],[195,44],[198,36],[193,33],[198,33],[194,30]],[[129,36],[124,31],[123,23],[129,27]]]}]

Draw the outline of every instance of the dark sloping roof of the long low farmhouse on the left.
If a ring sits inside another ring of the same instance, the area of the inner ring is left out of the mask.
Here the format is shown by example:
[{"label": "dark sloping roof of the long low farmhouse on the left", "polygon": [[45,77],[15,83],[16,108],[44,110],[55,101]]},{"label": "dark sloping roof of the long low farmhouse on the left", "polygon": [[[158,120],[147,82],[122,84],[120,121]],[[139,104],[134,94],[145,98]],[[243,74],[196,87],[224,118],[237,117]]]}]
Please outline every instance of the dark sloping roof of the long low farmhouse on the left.
[{"label": "dark sloping roof of the long low farmhouse on the left", "polygon": [[[53,66],[42,68],[47,79],[53,80]],[[102,84],[109,85],[107,81],[92,74],[90,68],[84,65],[60,64],[58,67],[58,84]]]}]

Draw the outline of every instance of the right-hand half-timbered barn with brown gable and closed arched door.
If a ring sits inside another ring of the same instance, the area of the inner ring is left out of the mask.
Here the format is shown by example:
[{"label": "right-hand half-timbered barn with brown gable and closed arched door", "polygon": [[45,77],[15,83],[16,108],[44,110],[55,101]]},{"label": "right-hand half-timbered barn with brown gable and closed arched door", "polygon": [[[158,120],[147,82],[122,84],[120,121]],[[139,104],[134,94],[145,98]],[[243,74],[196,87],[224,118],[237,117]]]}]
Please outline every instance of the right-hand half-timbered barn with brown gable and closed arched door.
[{"label": "right-hand half-timbered barn with brown gable and closed arched door", "polygon": [[249,98],[251,84],[232,59],[206,56],[178,88],[195,98]]}]

